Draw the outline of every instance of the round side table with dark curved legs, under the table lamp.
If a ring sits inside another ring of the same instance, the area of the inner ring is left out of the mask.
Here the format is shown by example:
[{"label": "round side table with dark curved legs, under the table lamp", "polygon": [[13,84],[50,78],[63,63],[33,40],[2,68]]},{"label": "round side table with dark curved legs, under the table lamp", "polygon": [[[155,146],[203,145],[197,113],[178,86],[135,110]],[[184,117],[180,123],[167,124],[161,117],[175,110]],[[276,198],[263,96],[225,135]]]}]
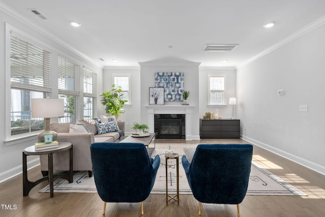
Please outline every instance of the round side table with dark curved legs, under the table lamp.
[{"label": "round side table with dark curved legs, under the table lamp", "polygon": [[[73,152],[72,152],[72,144],[70,142],[59,142],[58,147],[49,148],[44,150],[36,150],[35,145],[29,146],[25,148],[22,152],[22,182],[23,182],[23,196],[27,196],[32,188],[34,188],[37,184],[48,180],[50,185],[50,197],[54,196],[53,193],[53,178],[64,178],[69,181],[69,183],[73,182]],[[53,175],[53,153],[70,150],[70,168],[66,174],[57,174]],[[34,182],[29,181],[27,178],[27,156],[29,155],[42,155],[48,154],[49,157],[49,168],[48,175],[40,178]]]}]

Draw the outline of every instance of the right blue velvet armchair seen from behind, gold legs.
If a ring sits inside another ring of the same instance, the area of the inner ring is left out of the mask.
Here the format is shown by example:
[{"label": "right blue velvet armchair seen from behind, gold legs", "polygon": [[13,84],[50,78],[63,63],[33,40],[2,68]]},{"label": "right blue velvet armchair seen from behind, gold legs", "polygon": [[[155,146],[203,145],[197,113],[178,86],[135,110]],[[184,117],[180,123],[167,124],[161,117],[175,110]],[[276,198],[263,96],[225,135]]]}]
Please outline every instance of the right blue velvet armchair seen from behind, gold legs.
[{"label": "right blue velvet armchair seen from behind, gold legs", "polygon": [[239,204],[248,187],[253,146],[251,144],[200,144],[192,162],[182,164],[194,198],[201,203]]}]

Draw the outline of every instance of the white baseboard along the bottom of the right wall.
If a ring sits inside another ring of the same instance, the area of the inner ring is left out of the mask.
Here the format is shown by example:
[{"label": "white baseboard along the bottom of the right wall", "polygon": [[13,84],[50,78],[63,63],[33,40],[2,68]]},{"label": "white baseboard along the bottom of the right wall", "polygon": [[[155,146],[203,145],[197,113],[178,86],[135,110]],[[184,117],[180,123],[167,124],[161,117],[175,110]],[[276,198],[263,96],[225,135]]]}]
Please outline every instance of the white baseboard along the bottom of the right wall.
[{"label": "white baseboard along the bottom of the right wall", "polygon": [[279,156],[281,156],[283,158],[286,158],[286,159],[288,159],[290,161],[293,161],[293,162],[295,162],[297,164],[300,164],[300,165],[302,165],[304,167],[307,167],[308,169],[314,170],[314,171],[316,171],[316,172],[318,172],[318,173],[320,173],[322,175],[325,175],[325,167],[323,167],[323,166],[321,166],[319,164],[316,164],[316,163],[313,163],[313,162],[308,161],[306,159],[300,158],[298,156],[295,156],[294,154],[291,154],[291,153],[285,152],[285,151],[283,151],[281,149],[272,147],[272,146],[270,146],[270,145],[268,145],[266,143],[257,141],[255,139],[250,138],[250,137],[241,135],[241,138],[243,140],[246,140],[247,142],[250,142],[250,143],[252,143],[254,145],[257,145],[257,146],[259,146],[261,148],[264,148],[264,149],[266,149],[268,151],[271,151],[271,152],[273,152],[275,154],[278,154]]}]

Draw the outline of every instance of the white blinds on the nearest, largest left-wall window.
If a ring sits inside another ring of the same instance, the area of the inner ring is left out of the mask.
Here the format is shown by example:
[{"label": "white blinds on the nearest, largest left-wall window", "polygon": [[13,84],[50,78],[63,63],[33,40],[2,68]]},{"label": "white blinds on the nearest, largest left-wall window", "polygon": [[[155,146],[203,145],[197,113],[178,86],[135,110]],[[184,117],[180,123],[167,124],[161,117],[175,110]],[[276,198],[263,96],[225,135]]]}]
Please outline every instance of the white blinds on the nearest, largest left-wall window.
[{"label": "white blinds on the nearest, largest left-wall window", "polygon": [[51,53],[11,35],[11,88],[51,92]]}]

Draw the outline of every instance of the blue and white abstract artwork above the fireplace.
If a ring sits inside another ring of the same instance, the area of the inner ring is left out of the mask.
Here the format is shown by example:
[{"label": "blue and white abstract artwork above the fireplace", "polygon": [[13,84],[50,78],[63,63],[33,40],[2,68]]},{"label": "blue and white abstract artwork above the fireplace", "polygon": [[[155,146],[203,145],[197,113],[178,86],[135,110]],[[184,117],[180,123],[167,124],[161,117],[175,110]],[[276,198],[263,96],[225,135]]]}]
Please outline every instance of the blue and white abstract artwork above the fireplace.
[{"label": "blue and white abstract artwork above the fireplace", "polygon": [[184,74],[182,72],[156,72],[155,87],[164,87],[165,101],[183,101]]}]

